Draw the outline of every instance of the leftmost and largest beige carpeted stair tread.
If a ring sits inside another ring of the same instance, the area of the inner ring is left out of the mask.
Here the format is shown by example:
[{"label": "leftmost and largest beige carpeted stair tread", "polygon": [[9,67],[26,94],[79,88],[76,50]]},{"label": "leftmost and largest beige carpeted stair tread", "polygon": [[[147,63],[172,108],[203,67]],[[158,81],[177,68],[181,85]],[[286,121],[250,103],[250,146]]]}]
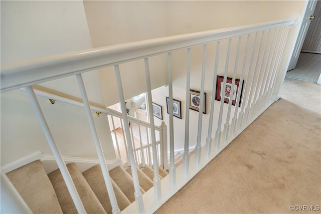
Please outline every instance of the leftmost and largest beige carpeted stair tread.
[{"label": "leftmost and largest beige carpeted stair tread", "polygon": [[40,160],[15,169],[7,176],[33,213],[63,213]]}]

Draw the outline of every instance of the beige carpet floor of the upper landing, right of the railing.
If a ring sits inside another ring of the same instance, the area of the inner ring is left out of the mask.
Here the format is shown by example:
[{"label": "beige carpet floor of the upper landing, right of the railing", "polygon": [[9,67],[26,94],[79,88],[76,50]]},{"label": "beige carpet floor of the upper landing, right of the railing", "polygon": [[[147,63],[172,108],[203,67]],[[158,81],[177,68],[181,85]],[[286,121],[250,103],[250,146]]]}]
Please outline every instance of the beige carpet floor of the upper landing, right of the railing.
[{"label": "beige carpet floor of the upper landing, right of the railing", "polygon": [[320,213],[289,208],[321,206],[320,87],[286,79],[282,98],[155,213]]}]

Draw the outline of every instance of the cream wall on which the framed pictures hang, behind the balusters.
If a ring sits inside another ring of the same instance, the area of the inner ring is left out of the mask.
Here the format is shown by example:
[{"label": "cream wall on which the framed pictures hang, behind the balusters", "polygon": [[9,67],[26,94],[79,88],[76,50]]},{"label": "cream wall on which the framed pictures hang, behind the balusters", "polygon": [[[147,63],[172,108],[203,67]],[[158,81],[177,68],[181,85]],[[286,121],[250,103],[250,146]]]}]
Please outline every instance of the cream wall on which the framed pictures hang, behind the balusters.
[{"label": "cream wall on which the framed pictures hang, behind the balusters", "polygon": [[[305,1],[168,1],[167,2],[167,22],[166,34],[167,36],[179,35],[184,33],[192,33],[198,31],[222,29],[236,26],[244,26],[256,24],[260,22],[276,21],[288,19],[293,14],[301,14],[305,6]],[[287,38],[287,45],[284,50],[284,57],[281,61],[280,71],[285,71],[288,56],[290,54],[292,44],[296,35],[297,28],[290,29]],[[253,47],[252,44],[249,50]],[[240,62],[237,68],[236,78],[240,78],[241,62],[244,58],[245,40],[243,38]],[[219,60],[218,75],[224,76],[226,47],[227,41],[221,43],[221,54]],[[235,63],[235,53],[237,48],[237,39],[232,40],[231,57],[229,63],[228,76],[232,77]],[[210,97],[212,95],[212,81],[214,73],[215,59],[214,44],[207,47],[207,62],[205,75],[205,92],[207,93],[207,112],[210,109]],[[224,50],[225,49],[225,50]],[[258,49],[258,46],[257,46]],[[200,91],[201,85],[201,71],[202,71],[202,47],[192,49],[192,63],[191,63],[191,88]],[[187,57],[186,51],[178,51],[173,53],[173,98],[180,100],[182,105],[182,120],[174,117],[175,127],[175,149],[184,147],[184,133],[185,133],[185,97],[186,97],[186,65]],[[260,66],[260,65],[258,65]],[[246,69],[249,67],[247,63]],[[253,74],[253,73],[252,73]],[[280,72],[282,74],[282,72]],[[245,77],[246,78],[246,75]],[[251,79],[250,79],[251,81]],[[256,82],[255,82],[256,83]],[[164,121],[169,124],[169,114],[167,113],[166,96],[168,96],[168,87],[161,87],[153,90],[153,102],[163,106]],[[243,95],[244,96],[244,95]],[[218,119],[218,105],[215,101],[214,121]],[[197,123],[198,112],[190,111],[190,146],[196,145],[197,138]],[[223,111],[222,129],[226,122],[227,104]],[[232,106],[231,118],[234,114],[234,107]],[[155,118],[155,117],[154,117]],[[156,119],[156,118],[155,118]],[[158,119],[156,119],[158,120]],[[209,113],[203,115],[202,123],[202,144],[205,143],[205,138],[208,132]],[[231,120],[230,120],[231,122]],[[157,123],[156,123],[157,124]],[[213,137],[217,123],[213,124]]]}]

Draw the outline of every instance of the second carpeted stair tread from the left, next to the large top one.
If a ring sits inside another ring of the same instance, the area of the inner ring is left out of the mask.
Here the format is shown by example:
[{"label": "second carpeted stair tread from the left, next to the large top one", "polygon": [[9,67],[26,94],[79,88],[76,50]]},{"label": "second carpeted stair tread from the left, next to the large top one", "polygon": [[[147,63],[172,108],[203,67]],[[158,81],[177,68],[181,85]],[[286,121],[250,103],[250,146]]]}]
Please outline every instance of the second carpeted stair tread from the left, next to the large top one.
[{"label": "second carpeted stair tread from the left, next to the large top one", "polygon": [[[66,165],[87,213],[106,213],[75,163]],[[64,213],[78,213],[59,169],[48,174]]]}]

